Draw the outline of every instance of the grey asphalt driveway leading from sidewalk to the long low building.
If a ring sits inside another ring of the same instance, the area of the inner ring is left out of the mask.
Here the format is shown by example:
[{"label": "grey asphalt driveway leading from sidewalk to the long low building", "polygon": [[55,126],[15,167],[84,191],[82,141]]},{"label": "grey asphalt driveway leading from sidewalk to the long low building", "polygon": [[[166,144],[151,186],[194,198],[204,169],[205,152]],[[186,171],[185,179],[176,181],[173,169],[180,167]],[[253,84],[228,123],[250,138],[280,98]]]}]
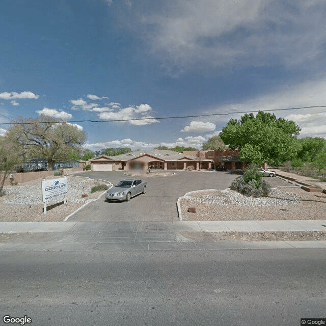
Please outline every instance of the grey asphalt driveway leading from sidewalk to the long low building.
[{"label": "grey asphalt driveway leading from sidewalk to the long low building", "polygon": [[[233,171],[176,171],[166,177],[135,177],[123,171],[88,171],[74,175],[102,179],[116,184],[123,179],[143,179],[147,181],[147,192],[131,198],[129,202],[108,202],[105,196],[91,202],[76,212],[69,221],[83,222],[134,222],[134,221],[177,221],[177,200],[190,191],[200,189],[226,189],[238,175]],[[274,183],[284,181],[267,178]]]}]

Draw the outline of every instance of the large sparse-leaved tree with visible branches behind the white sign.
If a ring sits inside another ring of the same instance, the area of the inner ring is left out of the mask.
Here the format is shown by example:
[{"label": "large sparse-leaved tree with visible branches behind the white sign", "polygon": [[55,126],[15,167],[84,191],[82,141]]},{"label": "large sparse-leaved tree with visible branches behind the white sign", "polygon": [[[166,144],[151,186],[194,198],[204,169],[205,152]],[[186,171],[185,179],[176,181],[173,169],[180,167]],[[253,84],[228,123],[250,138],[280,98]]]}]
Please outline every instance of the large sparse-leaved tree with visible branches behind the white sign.
[{"label": "large sparse-leaved tree with visible branches behind the white sign", "polygon": [[86,132],[76,125],[49,116],[19,117],[17,122],[8,135],[15,139],[24,158],[46,158],[49,169],[55,159],[78,155],[87,138]]}]

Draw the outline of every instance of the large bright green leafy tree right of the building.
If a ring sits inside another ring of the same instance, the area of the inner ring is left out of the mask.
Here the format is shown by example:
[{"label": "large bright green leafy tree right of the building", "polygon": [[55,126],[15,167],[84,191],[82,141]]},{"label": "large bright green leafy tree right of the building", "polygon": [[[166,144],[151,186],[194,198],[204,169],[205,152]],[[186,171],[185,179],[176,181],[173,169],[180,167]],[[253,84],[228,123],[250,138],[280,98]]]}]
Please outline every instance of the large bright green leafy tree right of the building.
[{"label": "large bright green leafy tree right of the building", "polygon": [[230,149],[239,150],[239,158],[250,164],[281,165],[297,156],[300,132],[293,121],[277,119],[274,114],[258,112],[246,114],[237,121],[231,119],[222,129],[220,137]]}]

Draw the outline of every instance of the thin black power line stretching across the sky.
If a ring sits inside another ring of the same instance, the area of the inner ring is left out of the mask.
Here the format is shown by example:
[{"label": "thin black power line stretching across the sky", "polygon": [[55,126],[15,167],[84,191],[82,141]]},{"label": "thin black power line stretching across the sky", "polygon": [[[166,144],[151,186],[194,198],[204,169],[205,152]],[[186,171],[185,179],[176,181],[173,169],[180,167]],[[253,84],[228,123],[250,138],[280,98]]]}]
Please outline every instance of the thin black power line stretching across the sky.
[{"label": "thin black power line stretching across the sky", "polygon": [[[199,118],[199,117],[211,117],[211,116],[227,116],[231,114],[243,114],[243,113],[254,113],[254,112],[270,112],[270,111],[285,111],[285,110],[300,110],[303,108],[314,108],[314,107],[326,107],[326,105],[314,105],[314,106],[302,106],[302,107],[289,107],[289,108],[274,108],[271,110],[256,110],[256,111],[238,111],[228,113],[214,113],[214,114],[202,114],[195,116],[179,116],[179,117],[159,117],[159,118],[139,118],[139,119],[114,119],[114,120],[74,120],[74,121],[42,121],[42,123],[77,123],[77,122],[122,122],[122,121],[137,121],[137,120],[163,120],[163,119],[184,119],[184,118]],[[9,119],[9,118],[8,118]],[[12,120],[12,119],[11,119]],[[35,122],[7,122],[0,123],[0,125],[9,124],[34,124]]]}]

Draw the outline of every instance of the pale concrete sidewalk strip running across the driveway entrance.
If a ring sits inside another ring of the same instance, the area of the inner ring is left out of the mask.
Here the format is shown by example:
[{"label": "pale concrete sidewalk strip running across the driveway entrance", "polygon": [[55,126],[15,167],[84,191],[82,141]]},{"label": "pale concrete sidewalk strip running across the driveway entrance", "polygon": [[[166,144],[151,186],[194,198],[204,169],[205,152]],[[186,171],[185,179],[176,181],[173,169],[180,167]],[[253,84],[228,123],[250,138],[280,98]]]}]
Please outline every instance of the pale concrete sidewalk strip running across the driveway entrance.
[{"label": "pale concrete sidewalk strip running across the driveway entrance", "polygon": [[[110,225],[111,222],[102,222]],[[114,223],[114,222],[112,222]],[[120,222],[121,224],[123,222]],[[130,224],[125,222],[126,225]],[[142,223],[142,222],[135,222]],[[150,222],[148,222],[150,223]],[[0,222],[0,233],[67,232],[85,222]],[[263,231],[326,231],[325,220],[273,220],[273,221],[174,221],[152,222],[153,225],[171,225],[176,232],[263,232]],[[88,230],[92,232],[92,224]],[[93,223],[98,225],[98,223]],[[159,231],[159,229],[157,229]],[[96,232],[101,232],[97,230]]]}]

